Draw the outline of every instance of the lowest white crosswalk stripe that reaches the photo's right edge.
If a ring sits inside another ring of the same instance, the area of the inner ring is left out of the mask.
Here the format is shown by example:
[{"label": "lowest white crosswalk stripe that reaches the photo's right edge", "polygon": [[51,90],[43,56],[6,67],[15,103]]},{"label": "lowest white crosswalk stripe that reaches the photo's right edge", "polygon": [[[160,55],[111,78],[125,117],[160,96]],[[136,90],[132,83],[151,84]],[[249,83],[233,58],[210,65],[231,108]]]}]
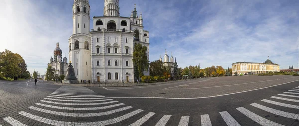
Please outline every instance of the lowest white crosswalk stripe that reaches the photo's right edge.
[{"label": "lowest white crosswalk stripe that reaches the photo's right edge", "polygon": [[287,118],[292,118],[292,119],[299,119],[299,114],[280,111],[280,110],[273,109],[273,108],[270,108],[270,107],[266,107],[266,106],[263,106],[263,105],[260,105],[260,104],[257,104],[257,103],[252,103],[250,105],[252,105],[254,107],[257,107],[261,110],[267,111],[269,113],[273,113],[275,115],[282,116],[282,117],[287,117]]}]

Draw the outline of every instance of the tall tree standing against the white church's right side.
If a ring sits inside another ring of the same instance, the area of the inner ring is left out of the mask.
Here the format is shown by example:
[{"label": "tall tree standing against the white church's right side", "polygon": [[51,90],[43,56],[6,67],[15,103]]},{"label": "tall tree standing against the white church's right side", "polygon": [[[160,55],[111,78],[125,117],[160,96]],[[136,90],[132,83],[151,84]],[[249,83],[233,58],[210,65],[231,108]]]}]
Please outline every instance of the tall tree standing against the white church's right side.
[{"label": "tall tree standing against the white church's right side", "polygon": [[[148,48],[141,45],[140,43],[135,43],[133,47],[133,66],[134,76],[140,78],[143,76],[144,70],[148,70],[149,62],[147,56]],[[138,76],[137,76],[138,75]]]}]

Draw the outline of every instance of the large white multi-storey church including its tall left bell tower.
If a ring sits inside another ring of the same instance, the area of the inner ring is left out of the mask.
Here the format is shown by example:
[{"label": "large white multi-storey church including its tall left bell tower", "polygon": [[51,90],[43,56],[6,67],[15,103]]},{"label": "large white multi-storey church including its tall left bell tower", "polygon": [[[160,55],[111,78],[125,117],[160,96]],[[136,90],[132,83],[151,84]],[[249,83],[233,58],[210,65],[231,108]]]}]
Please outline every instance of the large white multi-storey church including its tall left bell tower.
[{"label": "large white multi-storey church including its tall left bell tower", "polygon": [[[143,29],[142,14],[136,8],[130,17],[120,16],[119,0],[104,0],[104,15],[93,17],[90,29],[88,0],[74,0],[73,34],[69,38],[69,59],[78,80],[93,83],[134,82],[133,46],[148,48],[149,31]],[[129,15],[129,14],[128,14]],[[144,75],[149,75],[149,69]]]}]

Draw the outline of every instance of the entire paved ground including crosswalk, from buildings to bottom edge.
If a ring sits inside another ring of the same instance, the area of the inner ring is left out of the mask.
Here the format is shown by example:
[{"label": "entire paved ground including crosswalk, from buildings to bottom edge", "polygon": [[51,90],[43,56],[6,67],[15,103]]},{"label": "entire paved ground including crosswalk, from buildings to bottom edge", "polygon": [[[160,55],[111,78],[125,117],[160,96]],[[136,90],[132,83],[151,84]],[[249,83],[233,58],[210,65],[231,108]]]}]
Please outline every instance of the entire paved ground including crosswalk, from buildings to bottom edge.
[{"label": "entire paved ground including crosswalk, from buildings to bottom edge", "polygon": [[298,109],[297,76],[106,88],[0,81],[0,126],[297,126]]}]

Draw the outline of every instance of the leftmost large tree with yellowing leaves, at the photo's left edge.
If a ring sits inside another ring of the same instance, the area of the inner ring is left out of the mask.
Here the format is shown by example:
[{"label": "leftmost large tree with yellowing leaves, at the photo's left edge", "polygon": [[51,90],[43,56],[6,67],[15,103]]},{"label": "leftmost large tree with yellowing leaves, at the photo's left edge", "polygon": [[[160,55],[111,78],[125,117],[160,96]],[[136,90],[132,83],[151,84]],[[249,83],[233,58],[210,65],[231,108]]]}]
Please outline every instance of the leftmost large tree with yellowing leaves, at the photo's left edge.
[{"label": "leftmost large tree with yellowing leaves, at the photo's left edge", "polygon": [[11,51],[5,49],[0,53],[0,72],[5,77],[17,77],[20,75],[19,57]]}]

